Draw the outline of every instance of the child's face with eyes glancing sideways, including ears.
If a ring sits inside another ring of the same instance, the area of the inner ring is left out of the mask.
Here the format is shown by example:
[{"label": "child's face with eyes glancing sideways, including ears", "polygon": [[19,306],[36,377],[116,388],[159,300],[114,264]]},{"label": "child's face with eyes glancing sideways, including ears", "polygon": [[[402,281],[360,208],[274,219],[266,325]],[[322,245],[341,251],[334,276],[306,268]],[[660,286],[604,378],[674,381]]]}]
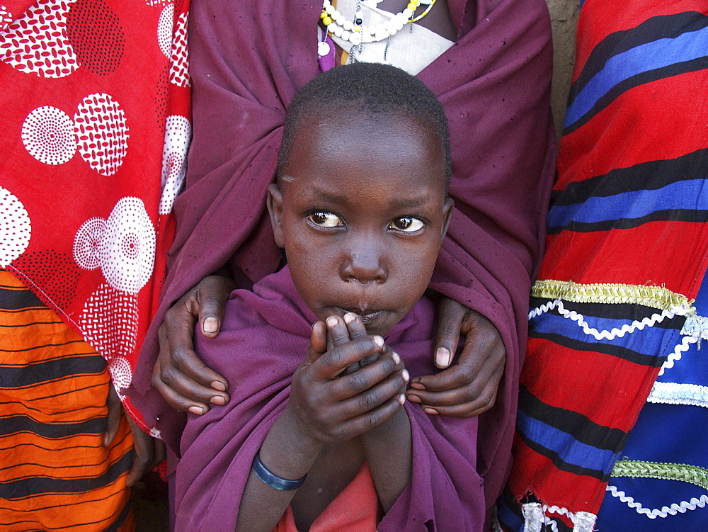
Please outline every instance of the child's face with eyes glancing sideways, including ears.
[{"label": "child's face with eyes glancing sideways, including ears", "polygon": [[369,334],[384,335],[428,287],[452,215],[430,129],[405,115],[343,112],[299,126],[268,209],[295,287],[319,319],[355,312]]}]

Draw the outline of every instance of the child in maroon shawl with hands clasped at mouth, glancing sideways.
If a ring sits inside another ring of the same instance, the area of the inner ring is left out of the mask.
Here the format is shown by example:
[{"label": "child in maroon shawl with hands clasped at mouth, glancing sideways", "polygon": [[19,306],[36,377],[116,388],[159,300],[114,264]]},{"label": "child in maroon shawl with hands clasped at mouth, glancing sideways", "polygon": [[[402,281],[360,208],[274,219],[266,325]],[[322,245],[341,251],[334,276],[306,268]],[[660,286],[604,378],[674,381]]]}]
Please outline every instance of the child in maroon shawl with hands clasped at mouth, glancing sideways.
[{"label": "child in maroon shawl with hands clasped at mouth, glancing sideways", "polygon": [[232,294],[217,338],[197,335],[233,391],[188,421],[178,530],[482,528],[476,418],[404,400],[434,370],[422,296],[449,179],[445,115],[421,81],[362,63],[299,91],[268,189],[287,266]]}]

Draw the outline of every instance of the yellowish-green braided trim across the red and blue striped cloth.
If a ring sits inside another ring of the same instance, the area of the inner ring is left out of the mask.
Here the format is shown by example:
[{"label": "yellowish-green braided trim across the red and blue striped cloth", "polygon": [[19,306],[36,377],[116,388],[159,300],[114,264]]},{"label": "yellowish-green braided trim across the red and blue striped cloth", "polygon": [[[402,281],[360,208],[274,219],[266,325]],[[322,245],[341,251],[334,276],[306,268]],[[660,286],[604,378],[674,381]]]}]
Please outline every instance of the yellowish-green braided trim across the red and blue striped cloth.
[{"label": "yellowish-green braided trim across the red and blue striped cloth", "polygon": [[577,303],[632,303],[661,310],[685,305],[692,300],[661,286],[596,283],[581,285],[573,281],[536,281],[531,289],[534,298],[561,299]]}]

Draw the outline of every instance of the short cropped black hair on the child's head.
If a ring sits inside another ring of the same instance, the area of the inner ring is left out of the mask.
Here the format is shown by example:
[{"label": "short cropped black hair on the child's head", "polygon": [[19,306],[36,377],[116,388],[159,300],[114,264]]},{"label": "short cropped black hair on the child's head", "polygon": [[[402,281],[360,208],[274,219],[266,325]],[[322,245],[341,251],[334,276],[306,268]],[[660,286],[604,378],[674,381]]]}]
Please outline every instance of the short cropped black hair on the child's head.
[{"label": "short cropped black hair on the child's head", "polygon": [[365,62],[330,69],[304,84],[292,98],[278,152],[279,183],[300,123],[321,115],[323,108],[348,108],[373,116],[402,112],[430,125],[445,154],[445,186],[450,186],[450,128],[438,97],[423,81],[399,68]]}]

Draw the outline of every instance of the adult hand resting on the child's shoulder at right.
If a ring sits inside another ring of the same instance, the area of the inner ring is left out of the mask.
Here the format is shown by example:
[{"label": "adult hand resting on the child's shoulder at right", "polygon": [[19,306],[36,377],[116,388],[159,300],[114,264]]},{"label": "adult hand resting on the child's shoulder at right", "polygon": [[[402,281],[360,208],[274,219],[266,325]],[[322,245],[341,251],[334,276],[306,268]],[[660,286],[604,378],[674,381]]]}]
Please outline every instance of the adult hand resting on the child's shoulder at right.
[{"label": "adult hand resting on the child's shoulder at right", "polygon": [[[435,366],[443,371],[414,378],[408,400],[428,414],[478,416],[494,406],[506,363],[504,343],[489,319],[450,298],[440,300],[438,322]],[[462,353],[450,366],[460,334]]]}]

